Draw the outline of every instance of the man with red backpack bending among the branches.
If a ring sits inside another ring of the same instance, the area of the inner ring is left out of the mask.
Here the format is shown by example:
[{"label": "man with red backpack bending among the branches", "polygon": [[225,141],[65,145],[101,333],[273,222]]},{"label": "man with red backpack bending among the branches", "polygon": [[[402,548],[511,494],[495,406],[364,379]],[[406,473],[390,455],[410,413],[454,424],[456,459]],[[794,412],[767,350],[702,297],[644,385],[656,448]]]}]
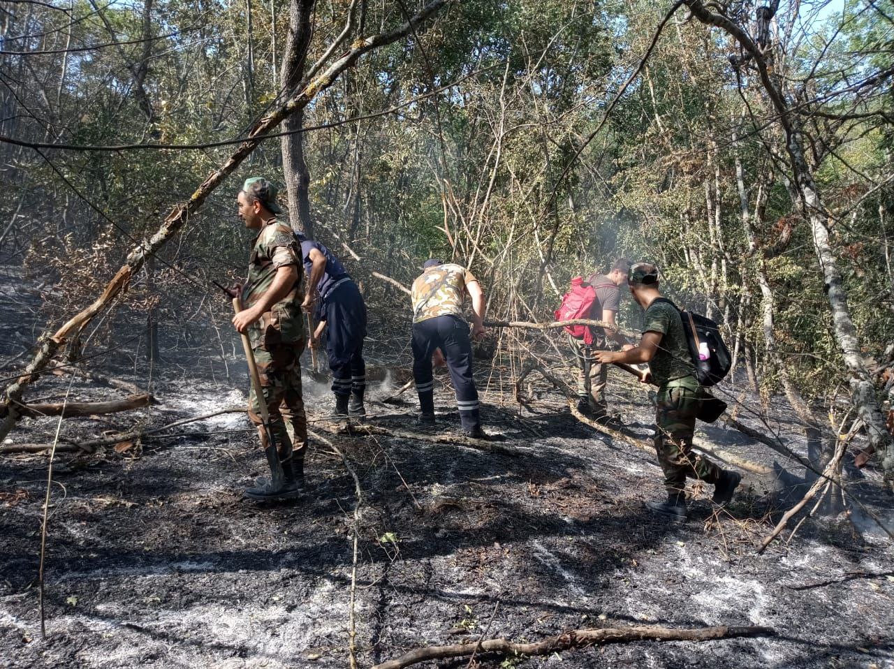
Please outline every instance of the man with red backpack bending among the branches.
[{"label": "man with red backpack bending among the branches", "polygon": [[[562,299],[561,307],[555,313],[556,319],[590,318],[615,325],[620,309],[619,286],[627,284],[629,268],[630,261],[619,258],[607,274],[590,275],[586,282],[579,276],[572,279],[571,290]],[[633,344],[620,332],[606,332],[603,327],[567,326],[565,330],[580,370],[578,411],[589,418],[620,423],[617,416],[609,414],[605,402],[608,366],[595,359],[594,351],[606,348],[610,340],[622,351],[633,348]]]}]

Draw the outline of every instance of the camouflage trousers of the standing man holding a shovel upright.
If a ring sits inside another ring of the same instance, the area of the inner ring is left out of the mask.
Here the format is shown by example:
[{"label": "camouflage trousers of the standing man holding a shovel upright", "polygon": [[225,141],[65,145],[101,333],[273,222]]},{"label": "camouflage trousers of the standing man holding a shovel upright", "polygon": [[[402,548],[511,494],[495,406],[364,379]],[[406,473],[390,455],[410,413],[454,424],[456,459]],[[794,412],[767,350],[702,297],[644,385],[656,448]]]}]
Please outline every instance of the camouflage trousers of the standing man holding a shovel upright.
[{"label": "camouflage trousers of the standing man holding a shovel upright", "polygon": [[[308,419],[301,397],[299,358],[302,351],[303,340],[299,343],[260,346],[252,351],[281,462],[291,457],[303,460],[308,449]],[[249,393],[249,419],[257,426],[263,450],[267,446],[267,435],[254,386]]]}]

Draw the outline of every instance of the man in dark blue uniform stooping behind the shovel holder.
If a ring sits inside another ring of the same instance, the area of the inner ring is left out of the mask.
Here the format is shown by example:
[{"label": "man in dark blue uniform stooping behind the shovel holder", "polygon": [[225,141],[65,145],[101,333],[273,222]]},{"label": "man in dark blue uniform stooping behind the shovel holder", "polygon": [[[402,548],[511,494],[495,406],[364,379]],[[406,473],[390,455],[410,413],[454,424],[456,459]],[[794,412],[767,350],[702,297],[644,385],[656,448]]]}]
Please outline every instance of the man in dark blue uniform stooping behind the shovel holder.
[{"label": "man in dark blue uniform stooping behind the shovel holder", "polygon": [[[317,318],[329,328],[326,353],[333,372],[336,416],[364,416],[363,393],[367,366],[363,360],[363,338],[367,335],[367,305],[357,284],[338,258],[319,241],[299,235],[308,290],[301,308],[311,313],[319,296]],[[311,345],[322,331],[318,327]]]}]

